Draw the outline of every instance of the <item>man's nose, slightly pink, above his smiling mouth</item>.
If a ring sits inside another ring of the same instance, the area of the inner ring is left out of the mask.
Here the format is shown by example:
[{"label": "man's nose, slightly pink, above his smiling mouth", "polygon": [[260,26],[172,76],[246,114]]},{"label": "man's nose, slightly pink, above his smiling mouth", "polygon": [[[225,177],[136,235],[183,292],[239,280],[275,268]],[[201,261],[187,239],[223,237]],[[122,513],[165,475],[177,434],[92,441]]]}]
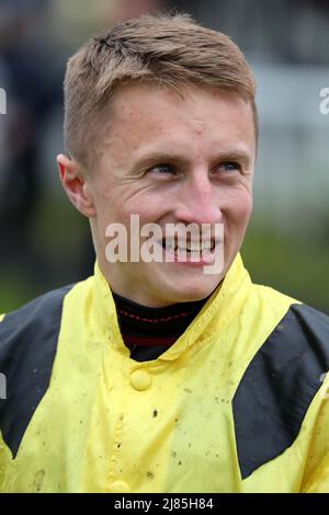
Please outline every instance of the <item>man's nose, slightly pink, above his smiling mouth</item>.
[{"label": "man's nose, slightly pink, above his smiling mouth", "polygon": [[214,191],[208,176],[194,176],[182,185],[175,219],[198,225],[223,221],[218,192]]}]

